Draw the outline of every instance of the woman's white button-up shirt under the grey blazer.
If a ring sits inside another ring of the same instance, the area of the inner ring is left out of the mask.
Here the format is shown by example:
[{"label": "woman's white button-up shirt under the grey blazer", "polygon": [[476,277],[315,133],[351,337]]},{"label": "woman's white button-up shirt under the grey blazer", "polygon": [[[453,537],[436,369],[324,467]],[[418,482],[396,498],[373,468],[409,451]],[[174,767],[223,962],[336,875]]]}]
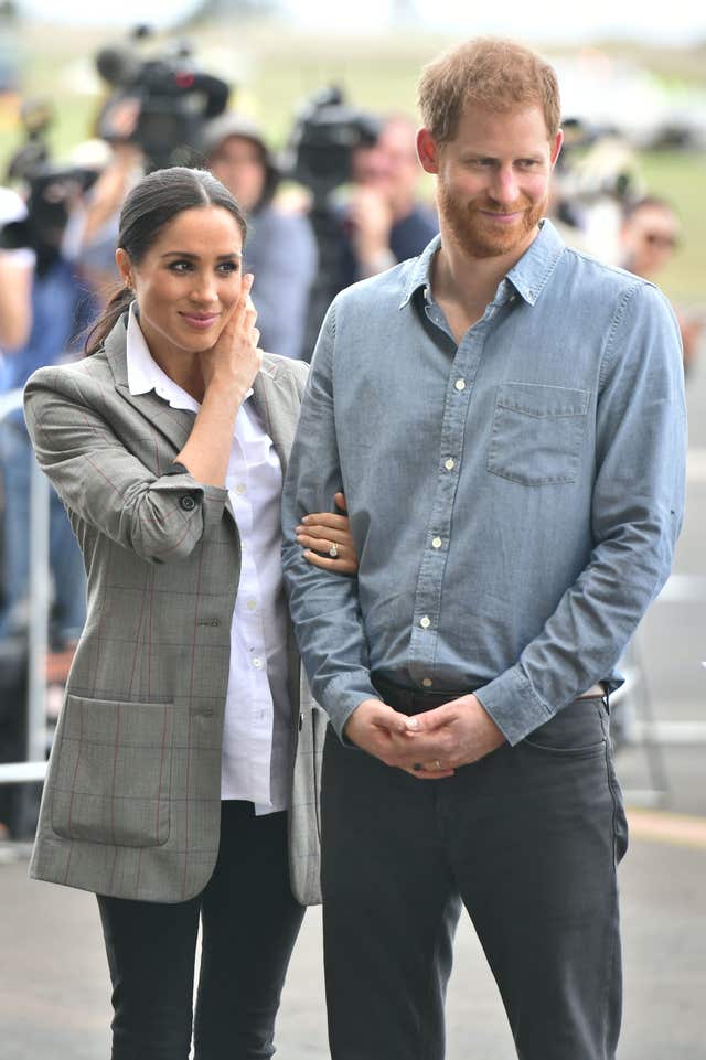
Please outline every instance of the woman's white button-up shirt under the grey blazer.
[{"label": "woman's white button-up shirt under the grey blazer", "polygon": [[[153,361],[130,308],[130,394],[154,390],[172,408],[201,408]],[[282,471],[248,390],[235,420],[225,485],[240,536],[240,581],[231,624],[221,797],[287,807],[291,704],[287,687],[287,602],[280,563]]]}]

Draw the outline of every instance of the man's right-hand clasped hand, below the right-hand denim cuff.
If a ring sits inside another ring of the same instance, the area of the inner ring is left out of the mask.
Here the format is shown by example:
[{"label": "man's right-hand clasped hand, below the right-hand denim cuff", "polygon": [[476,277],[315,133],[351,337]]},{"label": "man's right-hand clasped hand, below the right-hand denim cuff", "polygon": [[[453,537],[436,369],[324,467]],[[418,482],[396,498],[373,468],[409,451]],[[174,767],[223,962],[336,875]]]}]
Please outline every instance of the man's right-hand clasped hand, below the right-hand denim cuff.
[{"label": "man's right-hand clasped hand, below the right-hand denim cuff", "polygon": [[451,699],[435,710],[406,718],[420,780],[446,777],[459,765],[484,758],[505,737],[475,696]]}]

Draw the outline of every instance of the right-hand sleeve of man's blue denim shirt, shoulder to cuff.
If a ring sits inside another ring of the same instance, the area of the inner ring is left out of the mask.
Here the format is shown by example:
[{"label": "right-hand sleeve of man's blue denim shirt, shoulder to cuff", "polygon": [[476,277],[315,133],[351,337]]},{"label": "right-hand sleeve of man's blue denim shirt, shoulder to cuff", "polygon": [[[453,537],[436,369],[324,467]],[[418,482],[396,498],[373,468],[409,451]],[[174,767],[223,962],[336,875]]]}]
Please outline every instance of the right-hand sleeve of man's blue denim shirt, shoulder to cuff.
[{"label": "right-hand sleeve of man's blue denim shirt, shoulder to cuff", "polygon": [[511,743],[607,681],[670,574],[685,495],[684,377],[674,313],[651,285],[616,311],[596,415],[589,563],[516,665],[477,692]]}]

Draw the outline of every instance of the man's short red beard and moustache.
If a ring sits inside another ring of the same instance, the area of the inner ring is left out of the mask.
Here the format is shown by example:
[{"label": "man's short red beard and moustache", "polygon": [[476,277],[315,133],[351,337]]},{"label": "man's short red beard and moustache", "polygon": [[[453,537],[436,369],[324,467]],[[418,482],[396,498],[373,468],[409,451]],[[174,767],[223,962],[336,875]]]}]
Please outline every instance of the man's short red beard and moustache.
[{"label": "man's short red beard and moustache", "polygon": [[[438,181],[437,203],[440,216],[462,250],[475,258],[493,258],[510,254],[526,242],[546,212],[547,199],[545,196],[541,202],[533,203],[523,196],[505,208],[499,208],[486,200],[461,203],[453,197],[446,184]],[[520,211],[521,216],[502,227],[493,224],[492,218],[486,218],[481,211],[495,214]]]}]

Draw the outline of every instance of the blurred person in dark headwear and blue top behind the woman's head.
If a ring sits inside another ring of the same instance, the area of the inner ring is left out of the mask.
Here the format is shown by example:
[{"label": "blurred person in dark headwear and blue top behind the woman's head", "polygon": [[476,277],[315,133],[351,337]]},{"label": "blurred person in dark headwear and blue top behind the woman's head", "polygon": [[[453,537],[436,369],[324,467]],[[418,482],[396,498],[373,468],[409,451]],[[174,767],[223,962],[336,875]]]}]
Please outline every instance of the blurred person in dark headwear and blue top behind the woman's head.
[{"label": "blurred person in dark headwear and blue top behind the woman's head", "polygon": [[275,201],[279,174],[258,127],[234,111],[206,125],[203,152],[248,223],[245,268],[256,277],[253,301],[266,350],[301,357],[318,253],[306,214]]}]

